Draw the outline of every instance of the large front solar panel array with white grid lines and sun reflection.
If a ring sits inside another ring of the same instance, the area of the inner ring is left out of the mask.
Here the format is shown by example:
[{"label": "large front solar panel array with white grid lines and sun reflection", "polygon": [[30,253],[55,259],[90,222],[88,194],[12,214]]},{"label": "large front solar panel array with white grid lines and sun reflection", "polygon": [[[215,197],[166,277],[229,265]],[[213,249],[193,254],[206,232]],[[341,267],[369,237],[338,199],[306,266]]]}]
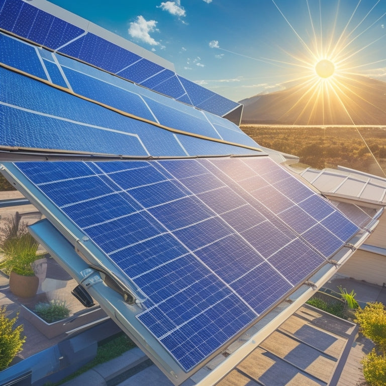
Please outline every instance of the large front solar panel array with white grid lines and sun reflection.
[{"label": "large front solar panel array with white grid lines and sun reflection", "polygon": [[359,230],[266,157],[16,165],[146,295],[138,320],[186,372]]}]

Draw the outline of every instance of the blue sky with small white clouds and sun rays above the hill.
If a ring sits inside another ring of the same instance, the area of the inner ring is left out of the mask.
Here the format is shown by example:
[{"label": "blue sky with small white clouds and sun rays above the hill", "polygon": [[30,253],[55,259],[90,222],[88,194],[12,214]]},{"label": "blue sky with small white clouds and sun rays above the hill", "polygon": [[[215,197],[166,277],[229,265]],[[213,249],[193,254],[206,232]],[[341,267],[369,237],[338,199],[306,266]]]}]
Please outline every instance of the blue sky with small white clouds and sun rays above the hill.
[{"label": "blue sky with small white clouds and sun rays above the hill", "polygon": [[333,72],[386,81],[386,0],[50,2],[233,101],[323,78],[316,72],[323,59]]}]

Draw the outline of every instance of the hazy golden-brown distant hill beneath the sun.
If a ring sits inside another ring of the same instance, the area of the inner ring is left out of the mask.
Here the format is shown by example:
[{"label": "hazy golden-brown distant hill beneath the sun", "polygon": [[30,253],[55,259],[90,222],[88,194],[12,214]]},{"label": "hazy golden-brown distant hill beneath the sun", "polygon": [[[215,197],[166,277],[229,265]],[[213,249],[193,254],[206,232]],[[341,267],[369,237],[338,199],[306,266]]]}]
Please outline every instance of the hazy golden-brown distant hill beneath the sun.
[{"label": "hazy golden-brown distant hill beneath the sun", "polygon": [[283,125],[386,125],[386,82],[365,76],[339,78],[333,92],[297,85],[240,101],[242,123]]}]

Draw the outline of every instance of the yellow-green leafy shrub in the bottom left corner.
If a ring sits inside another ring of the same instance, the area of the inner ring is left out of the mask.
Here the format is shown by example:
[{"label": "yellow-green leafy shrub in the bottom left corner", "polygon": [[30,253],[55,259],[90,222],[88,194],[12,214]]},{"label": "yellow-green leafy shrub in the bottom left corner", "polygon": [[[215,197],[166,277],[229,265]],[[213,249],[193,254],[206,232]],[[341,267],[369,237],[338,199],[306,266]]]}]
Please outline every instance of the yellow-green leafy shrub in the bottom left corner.
[{"label": "yellow-green leafy shrub in the bottom left corner", "polygon": [[8,367],[26,340],[21,336],[23,325],[14,328],[17,319],[8,318],[7,307],[0,306],[0,371]]}]

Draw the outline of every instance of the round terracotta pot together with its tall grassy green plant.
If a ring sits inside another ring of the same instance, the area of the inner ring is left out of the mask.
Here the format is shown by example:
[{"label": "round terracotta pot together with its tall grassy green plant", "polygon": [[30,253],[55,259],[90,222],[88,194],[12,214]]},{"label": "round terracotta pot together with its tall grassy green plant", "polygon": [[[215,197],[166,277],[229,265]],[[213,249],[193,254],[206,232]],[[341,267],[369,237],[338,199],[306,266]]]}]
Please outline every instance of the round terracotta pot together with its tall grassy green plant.
[{"label": "round terracotta pot together with its tall grassy green plant", "polygon": [[39,286],[39,278],[34,272],[34,262],[40,257],[36,254],[38,242],[17,216],[7,220],[0,233],[0,247],[4,254],[0,269],[10,276],[11,292],[22,298],[35,296]]}]

